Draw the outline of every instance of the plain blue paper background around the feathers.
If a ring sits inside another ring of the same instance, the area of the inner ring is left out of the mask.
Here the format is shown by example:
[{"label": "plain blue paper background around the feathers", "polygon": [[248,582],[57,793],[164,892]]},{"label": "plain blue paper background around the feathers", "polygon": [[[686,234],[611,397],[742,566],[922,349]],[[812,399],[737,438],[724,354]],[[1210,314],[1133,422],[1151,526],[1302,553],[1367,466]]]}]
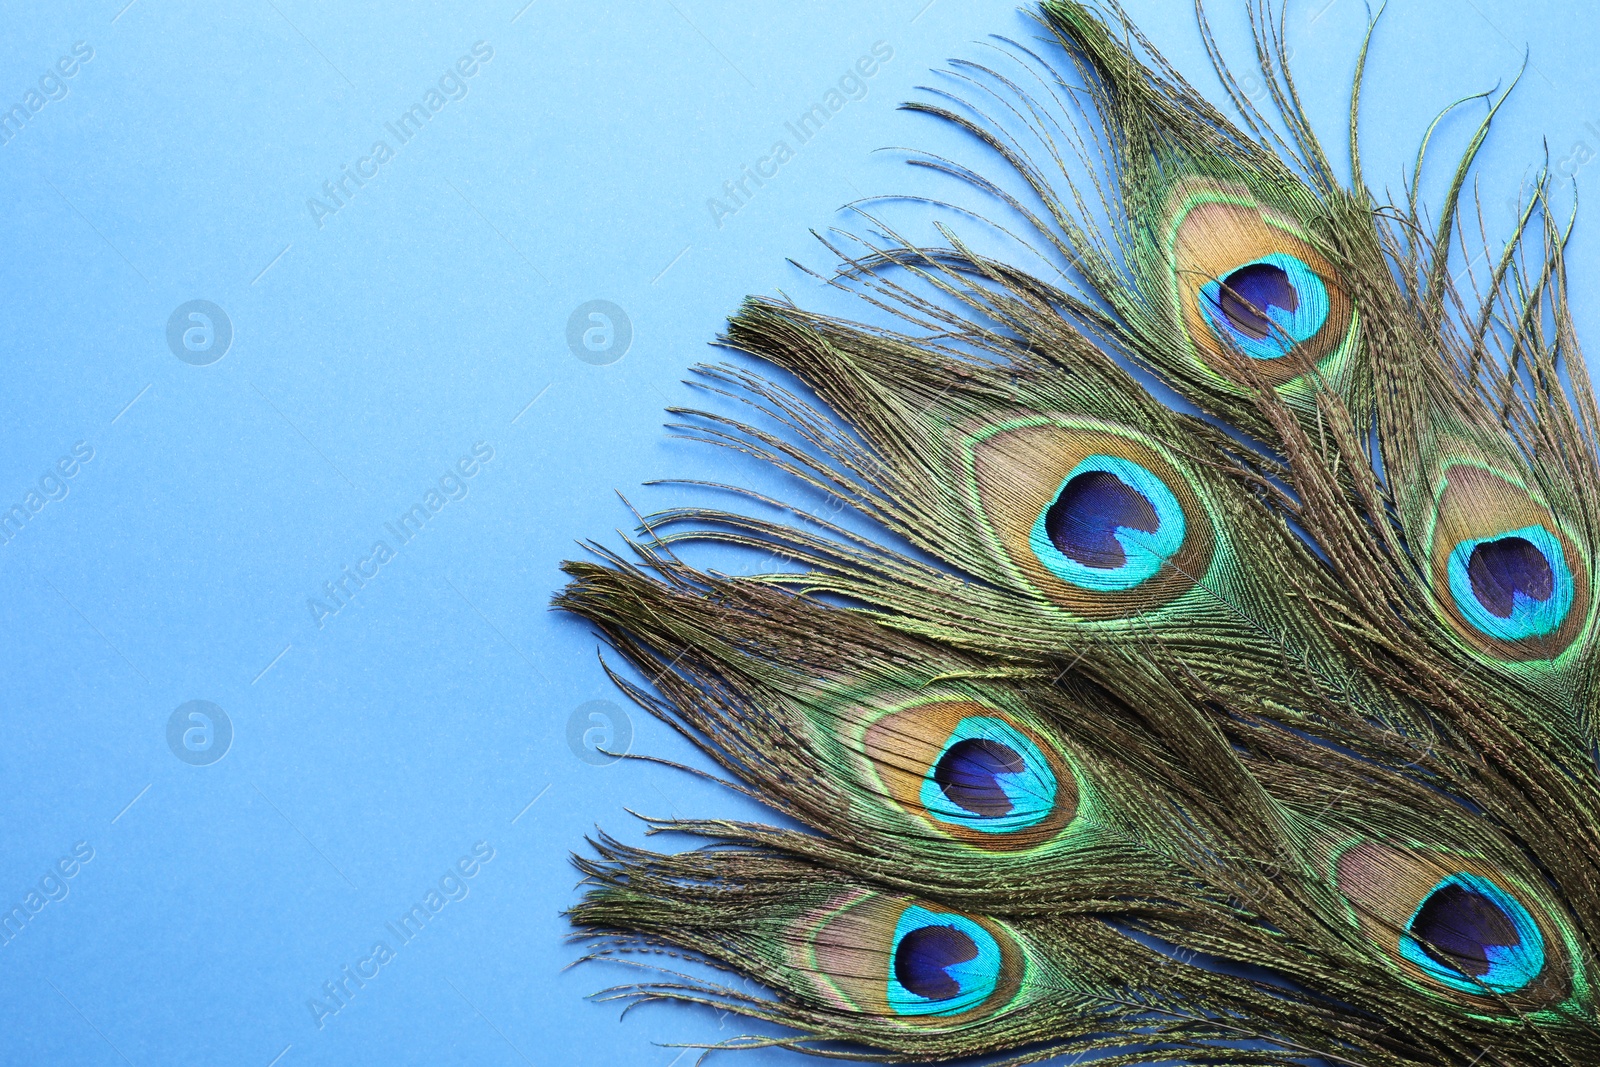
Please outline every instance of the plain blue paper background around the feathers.
[{"label": "plain blue paper background around the feathers", "polygon": [[[75,42],[93,48],[0,144],[0,507],[93,448],[0,544],[0,907],[93,849],[0,947],[0,1061],[693,1062],[661,1043],[742,1027],[661,1006],[619,1022],[582,997],[627,974],[562,969],[578,955],[558,915],[566,853],[595,824],[637,838],[624,808],[747,808],[570,747],[570,720],[592,725],[581,705],[614,694],[587,629],[546,609],[557,565],[630,525],[613,490],[654,507],[685,499],[638,488],[662,475],[779,488],[670,442],[661,410],[688,400],[685,368],[742,294],[816,291],[784,262],[829,262],[810,227],[858,195],[931,187],[874,149],[970,150],[893,107],[1026,19],[1010,0],[123,3],[0,3],[3,107]],[[1187,3],[1128,8],[1213,85]],[[1218,8],[1243,56],[1238,13]],[[1374,184],[1398,189],[1434,112],[1514,77],[1526,46],[1485,155],[1490,224],[1509,226],[1544,138],[1594,189],[1600,69],[1579,14],[1390,3],[1366,94]],[[1341,160],[1365,18],[1315,0],[1288,21]],[[307,198],[326,203],[323,182],[374,139],[395,147],[386,123],[477,42],[493,58],[466,94],[318,226]],[[893,59],[866,99],[718,226],[707,198],[875,42]],[[1478,115],[1443,141],[1459,147]],[[1586,333],[1595,232],[1584,222],[1571,251]],[[166,341],[192,299],[232,325],[206,366]],[[632,323],[616,363],[568,347],[592,299]],[[493,459],[466,498],[398,545],[386,523],[478,443]],[[307,598],[331,606],[323,582],[379,539],[394,558],[318,625]],[[232,725],[216,763],[168,744],[189,701]],[[685,755],[630,721],[634,750]],[[402,945],[386,923],[478,841],[493,859],[467,894]],[[318,1027],[307,1001],[376,941],[394,958]]]}]

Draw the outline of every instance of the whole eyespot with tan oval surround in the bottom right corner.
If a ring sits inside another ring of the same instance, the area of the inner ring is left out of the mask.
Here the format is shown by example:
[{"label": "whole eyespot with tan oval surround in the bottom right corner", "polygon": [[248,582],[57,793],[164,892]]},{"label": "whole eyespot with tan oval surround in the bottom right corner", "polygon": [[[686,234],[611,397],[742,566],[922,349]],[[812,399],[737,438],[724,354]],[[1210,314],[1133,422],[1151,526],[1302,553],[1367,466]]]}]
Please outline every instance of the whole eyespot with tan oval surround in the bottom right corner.
[{"label": "whole eyespot with tan oval surround in the bottom right corner", "polygon": [[1355,925],[1422,989],[1515,997],[1534,1009],[1574,989],[1568,931],[1522,880],[1486,861],[1358,841],[1338,856],[1334,878]]}]

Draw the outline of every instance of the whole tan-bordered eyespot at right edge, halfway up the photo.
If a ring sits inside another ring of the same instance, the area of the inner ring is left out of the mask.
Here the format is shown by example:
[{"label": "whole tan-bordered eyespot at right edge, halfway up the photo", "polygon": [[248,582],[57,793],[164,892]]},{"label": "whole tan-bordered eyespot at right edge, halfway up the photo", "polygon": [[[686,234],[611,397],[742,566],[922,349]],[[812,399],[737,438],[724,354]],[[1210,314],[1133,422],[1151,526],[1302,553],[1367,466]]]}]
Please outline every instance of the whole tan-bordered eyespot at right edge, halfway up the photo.
[{"label": "whole tan-bordered eyespot at right edge, halfway up the photo", "polygon": [[1510,661],[1573,643],[1589,616],[1587,565],[1546,506],[1496,470],[1456,462],[1434,512],[1432,582],[1458,633]]}]

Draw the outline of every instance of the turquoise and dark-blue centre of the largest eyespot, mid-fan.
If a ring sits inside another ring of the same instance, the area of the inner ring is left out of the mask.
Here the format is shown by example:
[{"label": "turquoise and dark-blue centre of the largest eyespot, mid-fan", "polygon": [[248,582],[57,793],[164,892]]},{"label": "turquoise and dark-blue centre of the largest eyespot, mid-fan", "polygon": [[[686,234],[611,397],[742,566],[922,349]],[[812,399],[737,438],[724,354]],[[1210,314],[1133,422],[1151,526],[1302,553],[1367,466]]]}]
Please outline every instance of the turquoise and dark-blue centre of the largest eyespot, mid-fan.
[{"label": "turquoise and dark-blue centre of the largest eyespot, mid-fan", "polygon": [[1184,547],[1184,509],[1166,485],[1122,456],[1088,456],[1034,522],[1029,547],[1061,581],[1123,592]]}]

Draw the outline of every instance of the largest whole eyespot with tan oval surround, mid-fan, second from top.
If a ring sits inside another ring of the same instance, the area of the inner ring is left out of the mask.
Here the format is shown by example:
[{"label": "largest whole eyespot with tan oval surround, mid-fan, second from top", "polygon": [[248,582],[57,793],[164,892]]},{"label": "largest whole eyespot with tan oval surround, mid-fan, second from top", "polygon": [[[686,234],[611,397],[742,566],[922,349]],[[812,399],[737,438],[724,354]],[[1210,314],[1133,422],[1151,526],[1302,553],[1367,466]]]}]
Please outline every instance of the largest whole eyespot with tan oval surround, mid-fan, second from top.
[{"label": "largest whole eyespot with tan oval surround, mid-fan, second from top", "polygon": [[970,450],[982,522],[1019,576],[1074,614],[1154,611],[1205,577],[1211,517],[1144,435],[1024,416],[984,427]]}]

